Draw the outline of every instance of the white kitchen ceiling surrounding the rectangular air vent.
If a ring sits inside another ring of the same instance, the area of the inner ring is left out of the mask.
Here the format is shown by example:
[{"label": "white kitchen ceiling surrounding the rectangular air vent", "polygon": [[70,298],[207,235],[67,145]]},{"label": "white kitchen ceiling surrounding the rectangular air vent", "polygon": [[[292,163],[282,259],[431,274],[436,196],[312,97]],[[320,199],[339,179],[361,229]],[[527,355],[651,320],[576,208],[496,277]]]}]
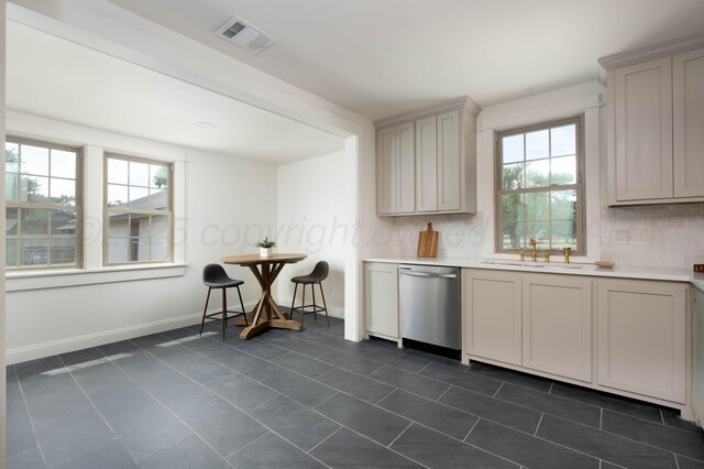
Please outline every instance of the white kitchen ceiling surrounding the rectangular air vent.
[{"label": "white kitchen ceiling surrounding the rectangular air vent", "polygon": [[[110,0],[371,119],[595,80],[600,56],[704,30],[702,0]],[[240,15],[279,40],[212,34]]]}]

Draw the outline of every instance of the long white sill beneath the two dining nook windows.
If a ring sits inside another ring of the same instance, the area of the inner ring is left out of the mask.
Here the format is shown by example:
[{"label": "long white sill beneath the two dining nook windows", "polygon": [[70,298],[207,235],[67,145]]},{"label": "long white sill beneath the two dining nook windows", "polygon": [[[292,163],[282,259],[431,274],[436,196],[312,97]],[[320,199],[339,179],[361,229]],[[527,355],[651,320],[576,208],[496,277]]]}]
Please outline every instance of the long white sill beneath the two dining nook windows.
[{"label": "long white sill beneath the two dining nook windows", "polygon": [[139,280],[182,276],[186,264],[164,263],[144,265],[120,265],[102,269],[62,269],[6,274],[7,292],[62,288],[66,286],[95,285],[100,283],[132,282]]}]

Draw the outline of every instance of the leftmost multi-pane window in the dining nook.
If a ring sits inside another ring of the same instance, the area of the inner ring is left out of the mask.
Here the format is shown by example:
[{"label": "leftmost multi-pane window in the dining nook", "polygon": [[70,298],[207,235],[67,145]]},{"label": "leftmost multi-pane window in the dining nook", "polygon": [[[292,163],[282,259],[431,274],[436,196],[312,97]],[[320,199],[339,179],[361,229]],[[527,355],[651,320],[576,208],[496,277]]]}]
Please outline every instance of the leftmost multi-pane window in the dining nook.
[{"label": "leftmost multi-pane window in the dining nook", "polygon": [[6,268],[80,264],[80,149],[8,138]]}]

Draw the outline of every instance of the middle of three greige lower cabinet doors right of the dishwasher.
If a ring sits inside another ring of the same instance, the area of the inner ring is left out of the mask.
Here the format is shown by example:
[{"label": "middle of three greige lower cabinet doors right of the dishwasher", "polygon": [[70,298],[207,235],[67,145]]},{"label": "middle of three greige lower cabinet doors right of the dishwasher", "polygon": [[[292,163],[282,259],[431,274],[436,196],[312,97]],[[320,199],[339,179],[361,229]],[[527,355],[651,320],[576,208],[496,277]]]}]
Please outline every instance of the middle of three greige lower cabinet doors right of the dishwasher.
[{"label": "middle of three greige lower cabinet doors right of the dishwasher", "polygon": [[524,275],[522,364],[592,381],[592,281]]}]

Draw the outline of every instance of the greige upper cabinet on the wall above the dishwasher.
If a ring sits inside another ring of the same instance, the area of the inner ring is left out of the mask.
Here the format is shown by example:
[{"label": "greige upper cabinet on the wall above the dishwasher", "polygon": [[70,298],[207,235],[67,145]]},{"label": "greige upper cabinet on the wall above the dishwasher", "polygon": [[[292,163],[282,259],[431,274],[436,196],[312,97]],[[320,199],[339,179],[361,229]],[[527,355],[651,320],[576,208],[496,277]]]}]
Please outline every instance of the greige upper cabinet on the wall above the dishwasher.
[{"label": "greige upper cabinet on the wall above the dishwasher", "polygon": [[375,122],[377,215],[476,211],[477,113],[461,98]]}]

